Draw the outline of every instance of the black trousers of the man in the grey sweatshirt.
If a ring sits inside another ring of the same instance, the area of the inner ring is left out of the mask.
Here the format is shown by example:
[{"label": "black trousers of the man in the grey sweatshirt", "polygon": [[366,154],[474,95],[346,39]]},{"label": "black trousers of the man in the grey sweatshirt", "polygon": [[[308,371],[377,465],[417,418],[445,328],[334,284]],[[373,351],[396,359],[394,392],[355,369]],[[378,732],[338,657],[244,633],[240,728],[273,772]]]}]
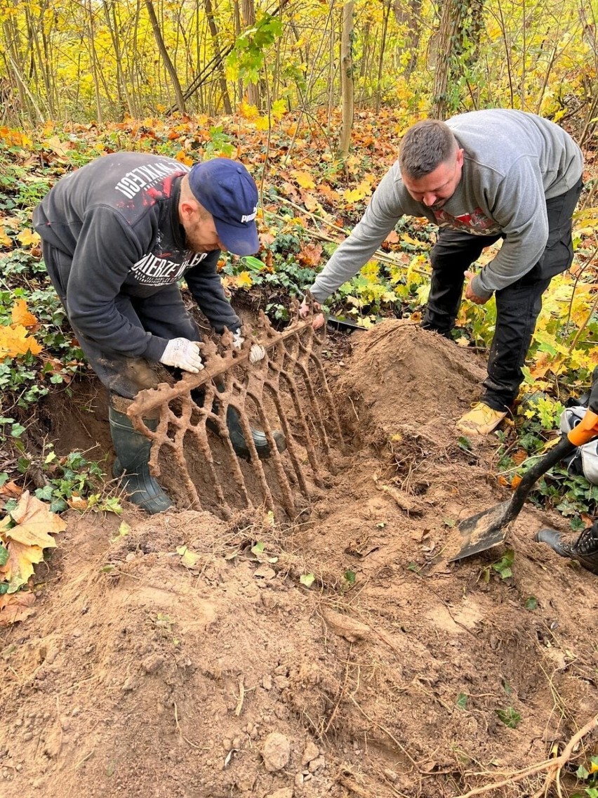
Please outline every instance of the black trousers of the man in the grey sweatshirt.
[{"label": "black trousers of the man in the grey sweatshirt", "polygon": [[[523,277],[496,291],[496,329],[482,395],[482,401],[495,410],[505,410],[517,397],[523,380],[521,366],[541,311],[542,294],[554,275],[571,266],[572,214],[582,188],[580,180],[565,194],[546,200],[549,237],[541,258]],[[425,329],[450,334],[461,304],[464,273],[482,249],[499,238],[501,235],[470,235],[447,228],[439,231],[430,256],[430,296],[422,321]]]}]

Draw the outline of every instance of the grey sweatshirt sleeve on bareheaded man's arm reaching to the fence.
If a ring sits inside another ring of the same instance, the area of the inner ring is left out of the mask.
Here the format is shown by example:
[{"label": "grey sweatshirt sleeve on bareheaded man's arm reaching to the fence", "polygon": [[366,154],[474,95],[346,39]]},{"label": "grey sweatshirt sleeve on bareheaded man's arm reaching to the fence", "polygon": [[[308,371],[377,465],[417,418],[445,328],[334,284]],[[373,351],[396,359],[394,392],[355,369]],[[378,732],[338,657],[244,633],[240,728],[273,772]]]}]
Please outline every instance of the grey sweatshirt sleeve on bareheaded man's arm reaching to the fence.
[{"label": "grey sweatshirt sleeve on bareheaded man's arm reaching to the fence", "polygon": [[396,176],[398,166],[395,164],[380,181],[363,218],[317,275],[309,289],[317,302],[325,302],[330,294],[368,263],[403,215],[403,208],[395,192]]}]

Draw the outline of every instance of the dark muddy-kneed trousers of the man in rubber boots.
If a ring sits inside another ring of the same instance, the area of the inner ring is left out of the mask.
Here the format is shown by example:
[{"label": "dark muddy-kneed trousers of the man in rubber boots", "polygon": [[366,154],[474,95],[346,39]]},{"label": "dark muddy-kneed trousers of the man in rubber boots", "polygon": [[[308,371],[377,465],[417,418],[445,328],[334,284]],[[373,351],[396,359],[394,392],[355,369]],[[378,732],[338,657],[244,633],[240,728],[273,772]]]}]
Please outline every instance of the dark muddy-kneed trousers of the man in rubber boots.
[{"label": "dark muddy-kneed trousers of the man in rubber boots", "polygon": [[[73,259],[48,243],[43,242],[41,248],[49,277],[69,317],[67,286]],[[118,294],[114,303],[116,310],[129,322],[160,338],[169,341],[172,338],[201,340],[199,328],[185,307],[176,284],[164,286],[148,298]],[[128,358],[124,354],[104,350],[98,342],[77,330],[73,322],[71,326],[89,365],[109,391],[132,399],[138,391],[158,385],[159,364],[145,358]]]}]

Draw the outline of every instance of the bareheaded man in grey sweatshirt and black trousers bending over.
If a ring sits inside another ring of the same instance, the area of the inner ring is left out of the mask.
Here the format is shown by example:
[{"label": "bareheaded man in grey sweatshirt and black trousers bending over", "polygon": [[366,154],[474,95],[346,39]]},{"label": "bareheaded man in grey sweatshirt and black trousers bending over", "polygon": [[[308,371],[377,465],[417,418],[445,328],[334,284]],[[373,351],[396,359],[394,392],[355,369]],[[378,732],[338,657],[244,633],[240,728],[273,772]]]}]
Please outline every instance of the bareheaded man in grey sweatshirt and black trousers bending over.
[{"label": "bareheaded man in grey sweatshirt and black trousers bending over", "polygon": [[[470,435],[490,433],[517,397],[541,295],[571,265],[582,171],[583,156],[571,136],[531,113],[492,109],[446,123],[418,122],[407,130],[399,160],[360,223],[309,290],[324,302],[368,262],[401,216],[437,223],[422,326],[450,337],[466,279],[470,301],[481,305],[495,295],[485,391],[457,425]],[[478,274],[468,271],[498,239],[498,255]]]}]

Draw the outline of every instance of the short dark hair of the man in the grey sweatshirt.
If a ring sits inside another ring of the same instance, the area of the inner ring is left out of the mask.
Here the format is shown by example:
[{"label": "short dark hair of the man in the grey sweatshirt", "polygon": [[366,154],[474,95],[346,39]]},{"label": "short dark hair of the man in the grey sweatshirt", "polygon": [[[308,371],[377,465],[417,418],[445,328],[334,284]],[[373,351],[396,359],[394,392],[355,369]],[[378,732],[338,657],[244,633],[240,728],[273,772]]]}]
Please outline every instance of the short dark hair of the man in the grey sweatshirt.
[{"label": "short dark hair of the man in the grey sweatshirt", "polygon": [[419,180],[444,164],[458,148],[452,130],[439,119],[424,119],[407,130],[399,150],[403,175]]}]

